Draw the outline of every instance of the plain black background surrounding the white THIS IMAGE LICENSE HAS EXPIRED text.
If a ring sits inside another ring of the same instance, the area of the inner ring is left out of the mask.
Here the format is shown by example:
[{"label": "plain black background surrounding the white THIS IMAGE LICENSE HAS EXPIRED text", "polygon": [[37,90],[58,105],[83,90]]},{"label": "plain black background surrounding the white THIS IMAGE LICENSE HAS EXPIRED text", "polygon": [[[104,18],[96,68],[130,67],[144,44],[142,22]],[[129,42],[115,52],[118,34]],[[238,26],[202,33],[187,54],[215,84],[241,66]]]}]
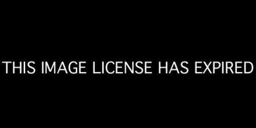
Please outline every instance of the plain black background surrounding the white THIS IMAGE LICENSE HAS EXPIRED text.
[{"label": "plain black background surrounding the white THIS IMAGE LICENSE HAS EXPIRED text", "polygon": [[1,61],[189,61],[190,73],[6,75],[2,66],[5,120],[95,125],[252,120],[254,73],[195,75],[193,62],[254,63],[253,8],[108,4],[18,4],[2,9]]}]

